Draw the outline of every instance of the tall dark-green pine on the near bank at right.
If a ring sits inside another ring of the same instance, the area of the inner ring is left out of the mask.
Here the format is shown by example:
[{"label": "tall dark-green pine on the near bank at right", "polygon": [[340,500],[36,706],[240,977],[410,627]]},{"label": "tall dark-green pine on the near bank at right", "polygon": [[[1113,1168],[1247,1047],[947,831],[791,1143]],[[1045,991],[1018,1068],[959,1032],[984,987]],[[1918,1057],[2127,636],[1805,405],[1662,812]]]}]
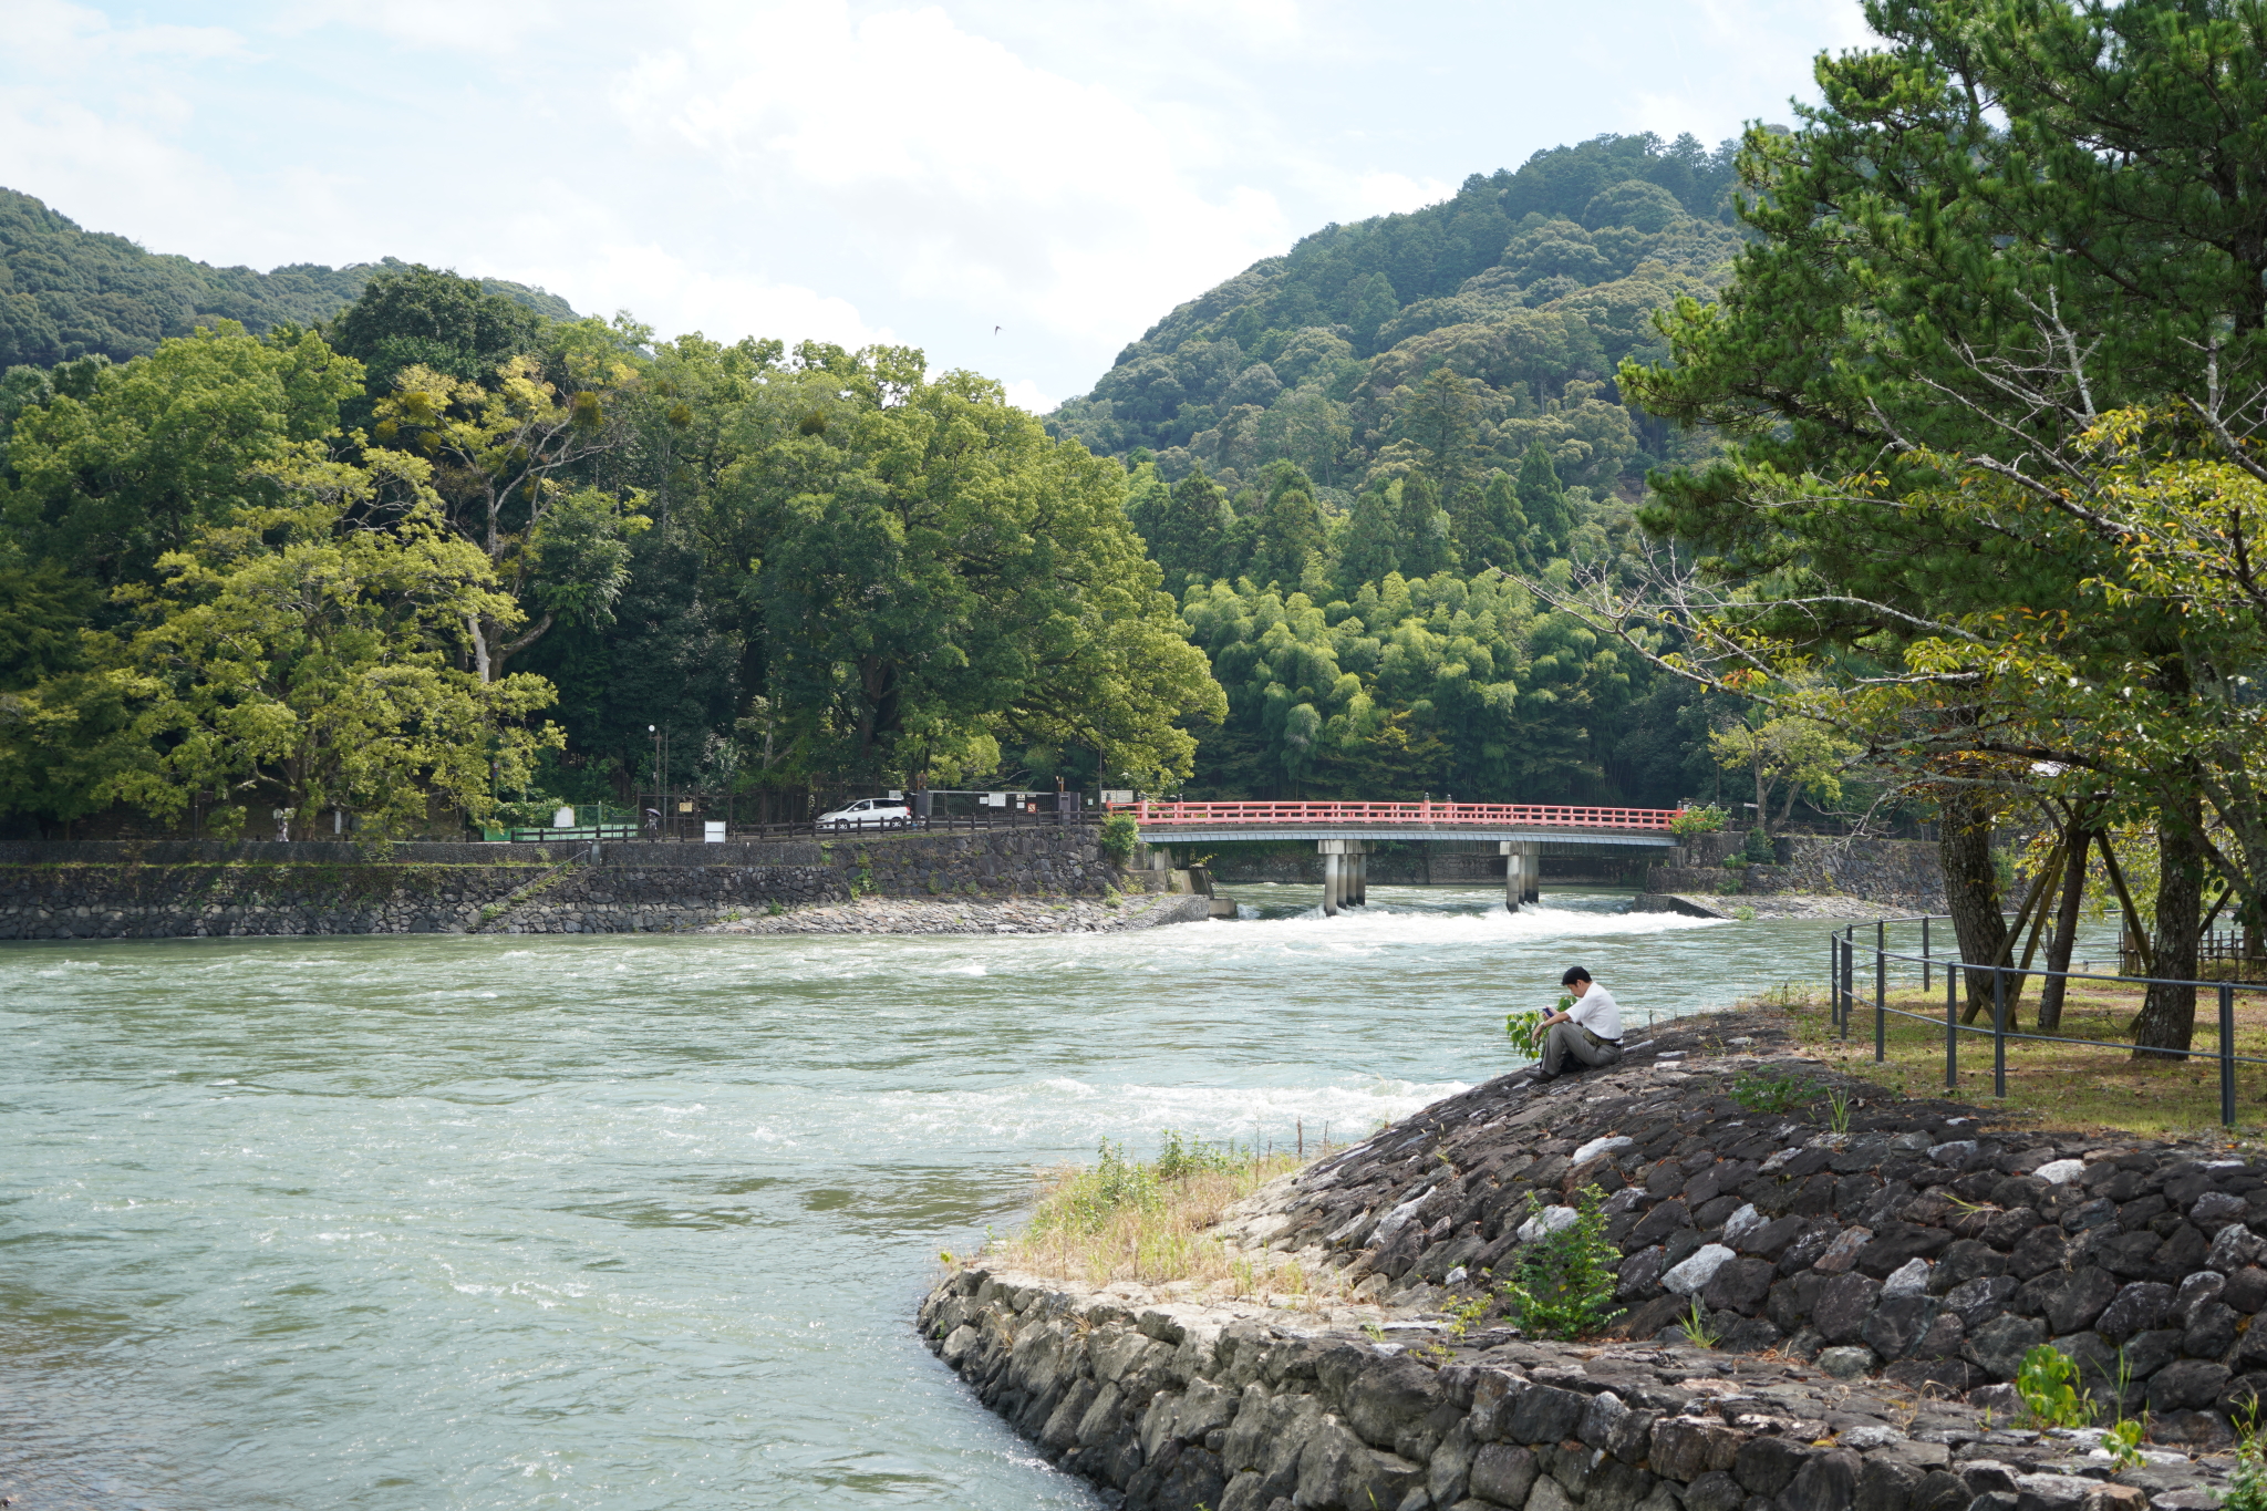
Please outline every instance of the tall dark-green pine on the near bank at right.
[{"label": "tall dark-green pine on the near bank at right", "polygon": [[[1723,301],[1678,306],[1671,367],[1623,369],[1625,394],[1739,439],[1723,464],[1664,480],[1648,523],[1771,582],[1761,598],[1782,612],[1764,634],[1918,657],[1913,675],[1943,698],[1909,711],[1891,754],[1945,793],[1979,793],[1963,809],[2068,757],[2156,813],[2156,967],[2190,976],[2208,761],[2102,739],[2115,725],[2058,723],[2054,705],[2113,689],[2199,727],[2217,718],[2208,689],[2244,675],[2240,643],[2204,643],[2176,603],[2129,591],[2145,537],[2099,505],[2086,453],[2117,410],[2163,406],[2185,419],[2138,437],[2158,462],[2199,444],[2233,462],[2251,444],[2256,419],[2228,394],[2267,378],[2267,236],[2256,197],[2231,190],[2258,177],[2262,147],[2231,122],[2267,106],[2258,18],[2172,0],[1920,0],[1868,20],[1884,45],[1818,63],[1825,104],[1795,136],[1750,134],[1743,215],[1759,240]],[[2038,716],[2013,716],[2018,741],[2002,723],[2018,680],[1977,648],[2002,639],[1995,625],[2104,596],[2115,614],[2056,646],[2074,682],[2029,684]],[[2038,739],[2056,723],[2058,739]],[[1947,872],[1981,856],[1947,850]],[[2238,870],[2256,877],[2258,861]],[[1963,927],[1961,942],[1993,949],[1988,931]],[[2154,988],[2138,1038],[2185,1047],[2192,1015],[2188,988]]]}]

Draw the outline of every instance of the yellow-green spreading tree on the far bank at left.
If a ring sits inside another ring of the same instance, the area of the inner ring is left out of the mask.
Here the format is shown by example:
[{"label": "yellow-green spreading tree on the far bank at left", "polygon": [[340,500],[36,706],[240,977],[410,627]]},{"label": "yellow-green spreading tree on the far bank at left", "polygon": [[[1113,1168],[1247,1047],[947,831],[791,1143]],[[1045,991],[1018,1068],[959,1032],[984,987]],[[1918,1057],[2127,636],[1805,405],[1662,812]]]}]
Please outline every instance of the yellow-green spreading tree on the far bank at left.
[{"label": "yellow-green spreading tree on the far bank at left", "polygon": [[551,702],[542,677],[456,668],[469,621],[517,614],[487,557],[451,537],[415,458],[356,467],[302,446],[270,480],[279,505],[202,530],[154,587],[120,589],[136,628],[109,680],[147,759],[97,795],[177,818],[211,788],[245,804],[224,816],[272,806],[302,834],[324,809],[381,834],[422,827],[428,795],[485,816],[492,772],[524,786],[553,739],[526,727]]}]

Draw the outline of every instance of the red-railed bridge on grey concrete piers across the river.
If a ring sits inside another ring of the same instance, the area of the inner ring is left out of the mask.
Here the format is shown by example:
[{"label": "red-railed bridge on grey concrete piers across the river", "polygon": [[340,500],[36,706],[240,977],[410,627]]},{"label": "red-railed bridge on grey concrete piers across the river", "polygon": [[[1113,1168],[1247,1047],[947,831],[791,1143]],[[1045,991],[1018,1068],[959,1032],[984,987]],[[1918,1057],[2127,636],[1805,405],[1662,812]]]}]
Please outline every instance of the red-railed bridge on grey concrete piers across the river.
[{"label": "red-railed bridge on grey concrete piers across the river", "polygon": [[1369,840],[1496,840],[1505,856],[1503,899],[1537,899],[1544,845],[1675,845],[1682,809],[1589,809],[1528,802],[1131,802],[1152,845],[1310,838],[1322,852],[1322,911],[1367,897]]}]

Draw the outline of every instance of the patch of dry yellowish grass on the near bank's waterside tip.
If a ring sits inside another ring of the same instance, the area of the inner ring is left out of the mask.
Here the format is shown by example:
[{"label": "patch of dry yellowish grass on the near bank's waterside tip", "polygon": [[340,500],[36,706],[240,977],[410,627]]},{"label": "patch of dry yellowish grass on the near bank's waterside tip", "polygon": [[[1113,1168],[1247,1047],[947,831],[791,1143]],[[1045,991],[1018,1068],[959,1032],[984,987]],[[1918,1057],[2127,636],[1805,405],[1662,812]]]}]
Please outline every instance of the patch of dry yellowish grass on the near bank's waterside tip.
[{"label": "patch of dry yellowish grass on the near bank's waterside tip", "polygon": [[[1322,1153],[1317,1146],[1308,1158]],[[1093,1164],[1050,1171],[1031,1221],[993,1239],[986,1257],[1097,1287],[1195,1282],[1220,1296],[1306,1307],[1338,1296],[1335,1271],[1206,1237],[1231,1205],[1301,1164],[1292,1153],[1204,1144],[1172,1130],[1147,1164],[1129,1160],[1122,1144],[1102,1144]]]}]

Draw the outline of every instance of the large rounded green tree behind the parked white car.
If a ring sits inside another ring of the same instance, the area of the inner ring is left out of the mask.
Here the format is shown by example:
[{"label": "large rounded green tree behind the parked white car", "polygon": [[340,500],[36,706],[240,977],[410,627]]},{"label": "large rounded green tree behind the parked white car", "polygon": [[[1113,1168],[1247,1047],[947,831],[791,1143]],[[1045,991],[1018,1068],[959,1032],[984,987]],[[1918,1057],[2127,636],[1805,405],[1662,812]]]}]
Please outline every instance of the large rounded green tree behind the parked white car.
[{"label": "large rounded green tree behind the parked white car", "polygon": [[1163,786],[1220,691],[1156,591],[1124,469],[918,351],[812,351],[832,408],[730,478],[766,539],[766,698],[803,770],[923,770],[979,741],[1106,745]]}]

